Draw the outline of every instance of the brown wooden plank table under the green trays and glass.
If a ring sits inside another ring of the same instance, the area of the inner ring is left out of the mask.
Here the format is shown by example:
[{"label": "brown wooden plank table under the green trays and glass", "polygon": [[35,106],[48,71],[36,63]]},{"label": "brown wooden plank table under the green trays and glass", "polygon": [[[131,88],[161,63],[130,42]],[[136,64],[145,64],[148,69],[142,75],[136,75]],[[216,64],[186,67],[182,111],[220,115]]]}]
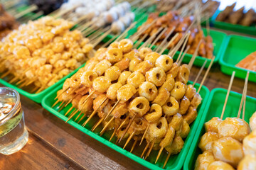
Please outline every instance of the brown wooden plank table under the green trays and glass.
[{"label": "brown wooden plank table under the green trays and glass", "polygon": [[[192,68],[190,80],[196,78],[199,69]],[[210,91],[228,89],[229,81],[230,76],[220,72],[220,66],[216,65],[210,70],[204,85]],[[244,80],[235,78],[232,91],[242,93],[243,86]],[[256,98],[255,83],[249,81],[247,95]],[[0,155],[0,169],[146,169],[64,123],[40,104],[24,96],[21,96],[21,103],[29,131],[28,144],[15,154]]]}]

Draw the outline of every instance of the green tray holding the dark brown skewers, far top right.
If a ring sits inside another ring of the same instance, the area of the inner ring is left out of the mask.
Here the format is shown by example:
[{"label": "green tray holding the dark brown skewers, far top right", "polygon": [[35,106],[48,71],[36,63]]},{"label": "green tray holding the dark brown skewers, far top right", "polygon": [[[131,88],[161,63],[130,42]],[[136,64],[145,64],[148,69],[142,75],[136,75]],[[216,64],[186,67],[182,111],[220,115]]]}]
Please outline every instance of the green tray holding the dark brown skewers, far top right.
[{"label": "green tray holding the dark brown skewers, far top right", "polygon": [[226,23],[222,21],[216,21],[215,19],[217,18],[218,14],[220,11],[217,11],[212,18],[211,23],[213,23],[213,27],[215,28],[220,28],[223,30],[232,30],[238,33],[245,33],[245,34],[250,34],[250,35],[256,35],[256,28],[255,25],[253,26],[241,26],[238,24],[232,24],[232,23]]}]

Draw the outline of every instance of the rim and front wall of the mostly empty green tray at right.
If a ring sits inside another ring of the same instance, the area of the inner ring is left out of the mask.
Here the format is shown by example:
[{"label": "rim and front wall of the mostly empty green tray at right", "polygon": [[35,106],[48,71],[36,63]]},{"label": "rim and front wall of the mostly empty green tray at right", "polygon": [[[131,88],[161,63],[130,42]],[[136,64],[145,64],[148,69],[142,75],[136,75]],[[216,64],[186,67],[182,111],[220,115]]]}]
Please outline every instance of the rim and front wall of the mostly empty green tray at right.
[{"label": "rim and front wall of the mostly empty green tray at right", "polygon": [[[220,56],[220,60],[219,60],[220,71],[223,72],[224,74],[228,74],[228,75],[231,75],[232,72],[235,71],[235,77],[238,77],[240,79],[245,79],[247,69],[235,67],[233,64],[229,64],[227,62],[224,62],[224,60],[223,60],[225,57],[225,51],[228,49],[228,44],[230,42],[230,38],[235,38],[235,37],[255,40],[255,44],[256,44],[255,38],[249,38],[249,37],[240,36],[240,35],[228,35],[228,37],[226,38],[226,41],[225,41],[225,50],[223,50],[223,53]],[[255,48],[255,50],[256,50],[256,48]],[[250,71],[248,80],[252,81],[252,82],[256,82],[256,72]]]}]

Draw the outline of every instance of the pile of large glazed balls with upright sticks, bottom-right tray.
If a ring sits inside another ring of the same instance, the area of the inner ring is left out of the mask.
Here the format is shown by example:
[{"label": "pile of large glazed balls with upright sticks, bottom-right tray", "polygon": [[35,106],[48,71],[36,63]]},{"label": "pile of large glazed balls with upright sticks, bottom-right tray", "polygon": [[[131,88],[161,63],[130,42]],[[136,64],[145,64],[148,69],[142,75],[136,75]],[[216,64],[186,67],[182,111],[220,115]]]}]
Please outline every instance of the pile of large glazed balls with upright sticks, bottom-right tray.
[{"label": "pile of large glazed balls with upright sticks, bottom-right tray", "polygon": [[[225,118],[225,106],[233,83],[235,72],[230,80],[223,112],[205,123],[206,133],[201,137],[198,147],[203,154],[196,159],[195,169],[248,170],[256,166],[256,112],[250,118],[250,126],[245,122],[245,98],[249,72],[245,79],[237,118]],[[242,119],[240,118],[243,104]],[[250,128],[252,132],[250,133]]]}]

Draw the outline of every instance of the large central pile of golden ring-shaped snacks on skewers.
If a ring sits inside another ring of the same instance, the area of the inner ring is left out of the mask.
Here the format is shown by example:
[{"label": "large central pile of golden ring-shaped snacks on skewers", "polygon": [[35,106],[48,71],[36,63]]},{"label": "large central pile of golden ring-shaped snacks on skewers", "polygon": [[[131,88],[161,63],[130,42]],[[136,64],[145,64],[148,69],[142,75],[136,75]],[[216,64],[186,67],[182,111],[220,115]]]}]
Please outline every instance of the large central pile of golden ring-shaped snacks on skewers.
[{"label": "large central pile of golden ring-shaped snacks on skewers", "polygon": [[97,114],[100,119],[92,131],[100,124],[104,127],[100,135],[114,129],[117,142],[127,139],[124,148],[134,139],[131,152],[139,140],[146,139],[141,155],[145,159],[152,149],[160,149],[157,159],[164,149],[170,157],[181,152],[202,100],[193,85],[186,85],[189,73],[187,64],[180,66],[169,55],[147,47],[133,49],[129,39],[115,41],[97,50],[85,67],[65,81],[53,106],[61,102],[61,111],[72,103],[65,115],[70,120],[78,113],[78,123],[89,116],[83,126]]}]

